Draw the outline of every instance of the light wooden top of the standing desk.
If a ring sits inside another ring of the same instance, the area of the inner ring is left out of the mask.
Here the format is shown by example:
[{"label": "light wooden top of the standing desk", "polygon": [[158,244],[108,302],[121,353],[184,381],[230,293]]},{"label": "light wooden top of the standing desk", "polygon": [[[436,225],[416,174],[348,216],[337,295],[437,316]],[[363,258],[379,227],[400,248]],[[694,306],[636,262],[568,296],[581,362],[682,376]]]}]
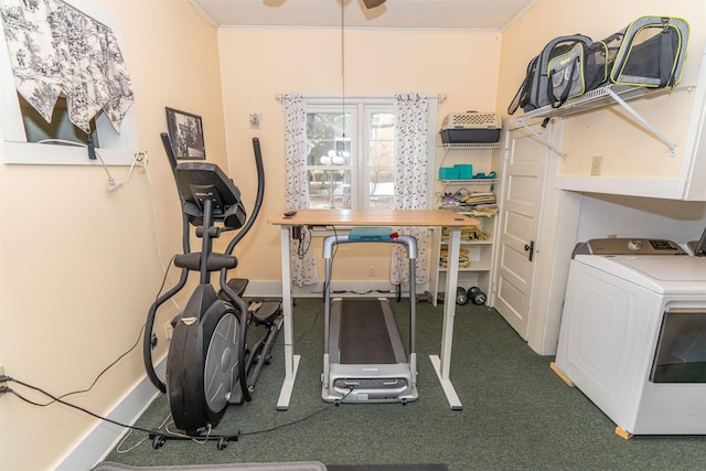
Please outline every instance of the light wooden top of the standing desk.
[{"label": "light wooden top of the standing desk", "polygon": [[478,220],[447,210],[297,210],[267,220],[280,226],[477,226]]}]

